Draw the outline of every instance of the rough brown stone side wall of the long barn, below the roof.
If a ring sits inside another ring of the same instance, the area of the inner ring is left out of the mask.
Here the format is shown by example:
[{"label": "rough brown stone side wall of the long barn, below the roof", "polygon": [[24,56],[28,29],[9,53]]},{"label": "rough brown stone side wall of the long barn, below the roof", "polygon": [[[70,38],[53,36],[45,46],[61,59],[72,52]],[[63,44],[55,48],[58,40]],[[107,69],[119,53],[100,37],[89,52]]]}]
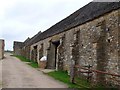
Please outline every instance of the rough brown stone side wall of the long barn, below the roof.
[{"label": "rough brown stone side wall of the long barn, below the roof", "polygon": [[[66,32],[54,35],[31,45],[31,51],[35,45],[37,48],[37,61],[40,57],[48,56],[48,68],[70,71],[74,62],[82,67],[91,66],[92,69],[120,74],[120,10],[109,12],[99,18],[79,25]],[[56,61],[55,45],[57,47]],[[41,46],[42,45],[42,46]],[[52,51],[53,50],[53,51]],[[51,65],[50,65],[51,63]],[[92,73],[91,81],[120,85],[120,77]]]}]

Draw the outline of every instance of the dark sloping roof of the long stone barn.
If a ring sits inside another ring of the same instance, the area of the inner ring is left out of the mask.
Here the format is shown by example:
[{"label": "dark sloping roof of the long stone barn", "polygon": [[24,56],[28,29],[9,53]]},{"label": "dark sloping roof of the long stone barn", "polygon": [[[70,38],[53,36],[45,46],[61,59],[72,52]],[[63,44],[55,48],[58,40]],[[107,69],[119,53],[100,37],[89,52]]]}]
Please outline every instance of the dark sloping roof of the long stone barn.
[{"label": "dark sloping roof of the long stone barn", "polygon": [[32,40],[32,44],[84,24],[105,13],[119,8],[120,2],[90,2],[46,31],[39,33],[37,36],[35,35],[34,40]]}]

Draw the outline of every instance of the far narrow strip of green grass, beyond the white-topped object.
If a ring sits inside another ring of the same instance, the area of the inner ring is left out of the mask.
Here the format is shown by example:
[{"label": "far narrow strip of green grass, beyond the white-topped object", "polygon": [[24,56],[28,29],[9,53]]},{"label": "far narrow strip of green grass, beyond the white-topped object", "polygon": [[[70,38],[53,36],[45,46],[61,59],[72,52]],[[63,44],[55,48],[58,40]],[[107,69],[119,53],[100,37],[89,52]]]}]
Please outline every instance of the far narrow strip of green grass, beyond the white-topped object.
[{"label": "far narrow strip of green grass, beyond the white-topped object", "polygon": [[17,57],[18,59],[20,59],[23,62],[29,62],[29,63],[27,63],[28,65],[30,65],[34,68],[38,68],[38,64],[36,62],[34,62],[33,60],[27,59],[27,58],[25,58],[23,56],[19,56],[19,55],[12,55],[12,56]]}]

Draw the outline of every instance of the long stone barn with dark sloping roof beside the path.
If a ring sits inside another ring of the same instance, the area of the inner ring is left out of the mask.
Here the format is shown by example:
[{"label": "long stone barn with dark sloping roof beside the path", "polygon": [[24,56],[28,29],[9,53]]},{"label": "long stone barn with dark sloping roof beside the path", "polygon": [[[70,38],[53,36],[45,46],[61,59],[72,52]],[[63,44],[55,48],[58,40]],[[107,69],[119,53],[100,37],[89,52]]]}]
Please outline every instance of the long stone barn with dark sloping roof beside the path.
[{"label": "long stone barn with dark sloping roof beside the path", "polygon": [[90,66],[104,72],[92,82],[120,85],[120,2],[90,2],[33,38],[30,59],[46,56],[46,68]]}]

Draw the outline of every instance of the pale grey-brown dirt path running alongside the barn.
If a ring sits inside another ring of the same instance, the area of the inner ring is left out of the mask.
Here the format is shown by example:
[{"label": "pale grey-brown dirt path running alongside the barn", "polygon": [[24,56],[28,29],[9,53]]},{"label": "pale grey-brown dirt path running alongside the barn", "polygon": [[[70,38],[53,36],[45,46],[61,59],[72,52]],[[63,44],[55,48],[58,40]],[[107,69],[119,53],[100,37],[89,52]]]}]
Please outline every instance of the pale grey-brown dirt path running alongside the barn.
[{"label": "pale grey-brown dirt path running alongside the barn", "polygon": [[3,88],[66,88],[67,86],[6,53],[2,62]]}]

